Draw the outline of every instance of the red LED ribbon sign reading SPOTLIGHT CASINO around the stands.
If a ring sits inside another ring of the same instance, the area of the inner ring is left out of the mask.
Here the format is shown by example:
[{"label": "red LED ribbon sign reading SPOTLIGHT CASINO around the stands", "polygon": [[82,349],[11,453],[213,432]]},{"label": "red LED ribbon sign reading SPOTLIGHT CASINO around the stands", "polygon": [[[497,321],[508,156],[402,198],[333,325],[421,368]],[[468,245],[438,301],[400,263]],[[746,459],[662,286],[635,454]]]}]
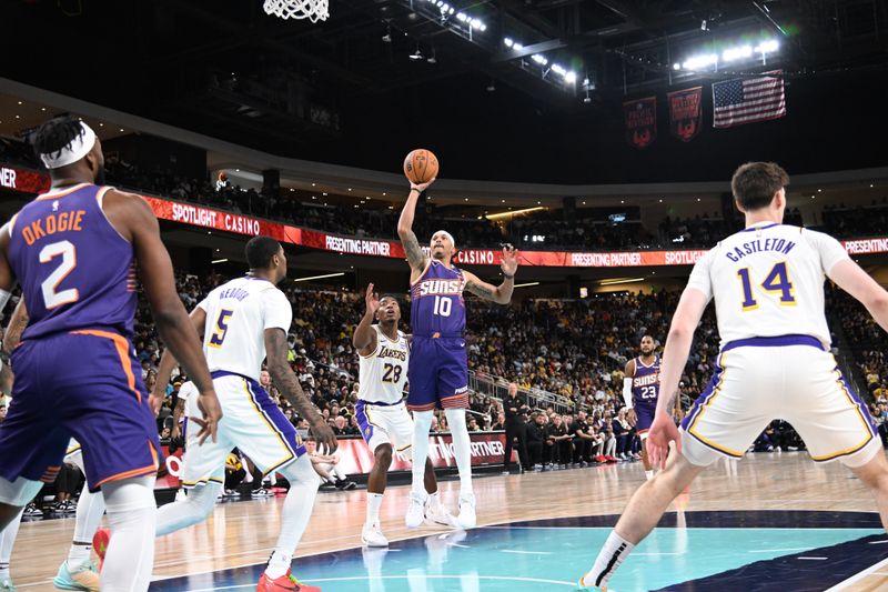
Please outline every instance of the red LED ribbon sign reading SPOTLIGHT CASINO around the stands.
[{"label": "red LED ribbon sign reading SPOTLIGHT CASINO around the stands", "polygon": [[[38,194],[49,189],[49,177],[43,173],[0,163],[0,191],[3,189],[27,194]],[[317,230],[291,227],[260,218],[243,215],[192,203],[148,197],[143,199],[161,220],[191,227],[232,232],[253,237],[266,234],[276,240],[329,251],[365,257],[405,259],[401,243],[383,239],[341,237]],[[849,254],[888,252],[888,237],[842,241]],[[693,265],[705,250],[674,251],[623,251],[623,252],[573,252],[573,251],[521,251],[523,265],[554,268],[633,268],[662,265]],[[462,249],[455,258],[458,265],[500,265],[498,249]]]}]

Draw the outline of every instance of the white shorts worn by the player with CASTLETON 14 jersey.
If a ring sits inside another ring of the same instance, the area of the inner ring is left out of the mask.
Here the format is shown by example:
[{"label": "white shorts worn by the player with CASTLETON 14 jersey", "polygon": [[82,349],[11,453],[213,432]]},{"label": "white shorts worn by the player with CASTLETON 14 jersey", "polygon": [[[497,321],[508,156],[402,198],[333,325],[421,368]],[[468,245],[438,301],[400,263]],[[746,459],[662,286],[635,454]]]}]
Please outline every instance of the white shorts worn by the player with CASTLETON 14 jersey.
[{"label": "white shorts worn by the player with CASTLETON 14 jersey", "polygon": [[807,335],[726,345],[713,380],[682,422],[682,451],[698,466],[719,455],[741,458],[776,419],[796,429],[818,462],[860,466],[881,451],[866,404],[833,354]]}]

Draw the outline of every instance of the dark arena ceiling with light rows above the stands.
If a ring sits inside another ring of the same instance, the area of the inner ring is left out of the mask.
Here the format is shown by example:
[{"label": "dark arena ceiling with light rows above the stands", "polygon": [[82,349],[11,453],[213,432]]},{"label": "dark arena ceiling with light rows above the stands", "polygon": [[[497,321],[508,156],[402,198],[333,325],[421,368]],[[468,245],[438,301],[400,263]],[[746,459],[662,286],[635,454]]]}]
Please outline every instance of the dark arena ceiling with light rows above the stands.
[{"label": "dark arena ceiling with light rows above the stands", "polygon": [[[307,160],[396,171],[423,146],[444,177],[607,183],[723,180],[750,159],[857,169],[888,152],[885,1],[330,0],[317,23],[262,0],[2,6],[0,76]],[[725,59],[744,46],[751,57]],[[695,64],[708,54],[719,63]],[[714,81],[775,69],[786,118],[712,129]],[[666,93],[695,86],[704,129],[678,143]],[[649,96],[659,139],[639,151],[622,103]]]}]

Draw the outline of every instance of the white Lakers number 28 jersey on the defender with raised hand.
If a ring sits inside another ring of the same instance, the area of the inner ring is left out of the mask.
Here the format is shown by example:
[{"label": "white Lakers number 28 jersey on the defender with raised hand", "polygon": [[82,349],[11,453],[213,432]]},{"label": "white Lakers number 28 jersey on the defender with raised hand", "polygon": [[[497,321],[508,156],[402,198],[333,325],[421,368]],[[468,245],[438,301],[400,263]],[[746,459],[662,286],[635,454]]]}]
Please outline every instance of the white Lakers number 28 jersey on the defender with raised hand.
[{"label": "white Lakers number 28 jersey on the defender with raised hand", "polygon": [[397,341],[392,341],[379,324],[374,324],[373,330],[376,331],[376,351],[361,355],[357,398],[371,403],[398,403],[404,398],[404,383],[407,382],[407,339],[398,331]]}]

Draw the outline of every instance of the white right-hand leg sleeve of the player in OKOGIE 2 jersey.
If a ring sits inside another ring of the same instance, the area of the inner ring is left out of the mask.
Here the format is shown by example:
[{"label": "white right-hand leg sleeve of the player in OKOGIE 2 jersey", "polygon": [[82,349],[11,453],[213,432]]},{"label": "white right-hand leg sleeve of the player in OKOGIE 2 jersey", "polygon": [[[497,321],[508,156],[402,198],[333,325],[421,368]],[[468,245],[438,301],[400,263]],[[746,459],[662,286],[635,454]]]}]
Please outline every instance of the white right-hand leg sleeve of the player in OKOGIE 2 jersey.
[{"label": "white right-hand leg sleeve of the player in OKOGIE 2 jersey", "polygon": [[102,592],[144,592],[154,566],[157,505],[154,478],[139,476],[102,485],[111,541],[102,568]]}]

